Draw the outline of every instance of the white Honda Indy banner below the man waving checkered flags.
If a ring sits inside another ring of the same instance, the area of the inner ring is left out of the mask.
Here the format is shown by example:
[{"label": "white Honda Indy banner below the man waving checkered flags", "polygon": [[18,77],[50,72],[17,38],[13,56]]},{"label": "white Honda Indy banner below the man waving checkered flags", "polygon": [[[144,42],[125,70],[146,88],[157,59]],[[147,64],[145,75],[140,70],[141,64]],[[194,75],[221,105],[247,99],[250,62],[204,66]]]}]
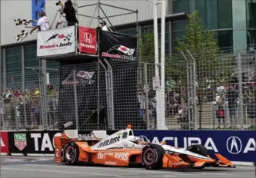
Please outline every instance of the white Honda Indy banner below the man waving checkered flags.
[{"label": "white Honda Indy banner below the man waving checkered flags", "polygon": [[75,26],[38,31],[38,57],[68,53],[75,53]]}]

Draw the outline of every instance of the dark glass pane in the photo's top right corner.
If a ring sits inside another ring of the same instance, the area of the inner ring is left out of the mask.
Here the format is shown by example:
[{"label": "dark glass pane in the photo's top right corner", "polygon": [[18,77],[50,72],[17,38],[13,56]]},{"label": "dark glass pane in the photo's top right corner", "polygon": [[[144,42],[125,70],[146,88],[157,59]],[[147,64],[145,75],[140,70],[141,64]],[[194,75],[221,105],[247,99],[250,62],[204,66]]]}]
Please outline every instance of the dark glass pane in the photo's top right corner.
[{"label": "dark glass pane in the photo's top right corner", "polygon": [[247,28],[255,28],[255,0],[246,0],[247,7],[246,7],[246,14],[247,14]]}]

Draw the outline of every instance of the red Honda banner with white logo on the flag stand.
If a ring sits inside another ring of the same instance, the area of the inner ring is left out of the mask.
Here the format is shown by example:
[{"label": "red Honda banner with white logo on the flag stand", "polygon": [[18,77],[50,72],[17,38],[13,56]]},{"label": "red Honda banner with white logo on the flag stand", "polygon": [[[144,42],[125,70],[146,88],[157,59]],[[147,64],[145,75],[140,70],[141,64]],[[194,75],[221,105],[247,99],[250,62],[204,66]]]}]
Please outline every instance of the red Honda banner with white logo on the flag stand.
[{"label": "red Honda banner with white logo on the flag stand", "polygon": [[95,28],[79,27],[79,51],[97,54],[97,31]]}]

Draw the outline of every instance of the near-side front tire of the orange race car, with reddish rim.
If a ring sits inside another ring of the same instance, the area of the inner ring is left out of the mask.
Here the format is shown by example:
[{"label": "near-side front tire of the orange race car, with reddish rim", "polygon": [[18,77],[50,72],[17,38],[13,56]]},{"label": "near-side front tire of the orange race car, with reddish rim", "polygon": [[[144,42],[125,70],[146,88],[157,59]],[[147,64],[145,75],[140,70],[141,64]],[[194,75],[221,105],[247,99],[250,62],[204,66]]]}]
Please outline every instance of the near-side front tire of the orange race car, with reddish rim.
[{"label": "near-side front tire of the orange race car, with reddish rim", "polygon": [[141,163],[147,170],[159,170],[163,165],[164,154],[161,145],[149,143],[141,150]]}]

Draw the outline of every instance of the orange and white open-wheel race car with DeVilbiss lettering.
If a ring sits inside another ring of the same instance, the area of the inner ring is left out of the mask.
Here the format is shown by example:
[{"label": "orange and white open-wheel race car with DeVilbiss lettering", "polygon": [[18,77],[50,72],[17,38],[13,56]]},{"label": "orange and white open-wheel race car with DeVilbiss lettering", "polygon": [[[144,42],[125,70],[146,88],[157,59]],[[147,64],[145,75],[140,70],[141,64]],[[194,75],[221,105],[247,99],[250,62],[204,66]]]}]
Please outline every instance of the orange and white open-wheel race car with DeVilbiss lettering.
[{"label": "orange and white open-wheel race car with DeVilbiss lettering", "polygon": [[187,150],[165,142],[150,143],[146,137],[135,137],[131,125],[108,136],[105,130],[79,135],[78,130],[64,130],[55,135],[55,162],[67,165],[93,163],[108,166],[138,164],[148,170],[163,168],[234,167],[230,160],[214,153],[210,156],[202,145]]}]

